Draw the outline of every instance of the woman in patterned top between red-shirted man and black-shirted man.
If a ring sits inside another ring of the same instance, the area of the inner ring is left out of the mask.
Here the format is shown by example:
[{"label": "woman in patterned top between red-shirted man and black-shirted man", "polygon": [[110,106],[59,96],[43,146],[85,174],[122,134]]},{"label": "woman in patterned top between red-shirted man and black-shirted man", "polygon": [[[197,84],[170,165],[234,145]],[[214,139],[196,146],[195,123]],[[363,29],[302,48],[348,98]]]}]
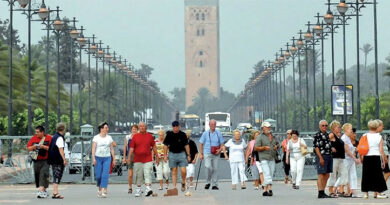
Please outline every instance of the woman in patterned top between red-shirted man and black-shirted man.
[{"label": "woman in patterned top between red-shirted man and black-shirted man", "polygon": [[169,162],[164,161],[164,139],[165,131],[159,130],[158,138],[155,140],[158,158],[160,159],[160,163],[156,166],[157,180],[160,182],[158,190],[163,190],[163,179],[165,179],[165,188],[168,189],[169,187]]}]

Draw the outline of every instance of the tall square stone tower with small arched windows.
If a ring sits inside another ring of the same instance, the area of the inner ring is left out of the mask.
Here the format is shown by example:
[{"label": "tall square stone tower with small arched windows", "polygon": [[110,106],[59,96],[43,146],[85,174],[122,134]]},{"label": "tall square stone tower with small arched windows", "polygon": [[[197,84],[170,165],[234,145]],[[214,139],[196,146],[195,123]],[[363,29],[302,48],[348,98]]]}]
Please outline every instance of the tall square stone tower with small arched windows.
[{"label": "tall square stone tower with small arched windows", "polygon": [[186,107],[200,88],[219,97],[219,2],[185,0]]}]

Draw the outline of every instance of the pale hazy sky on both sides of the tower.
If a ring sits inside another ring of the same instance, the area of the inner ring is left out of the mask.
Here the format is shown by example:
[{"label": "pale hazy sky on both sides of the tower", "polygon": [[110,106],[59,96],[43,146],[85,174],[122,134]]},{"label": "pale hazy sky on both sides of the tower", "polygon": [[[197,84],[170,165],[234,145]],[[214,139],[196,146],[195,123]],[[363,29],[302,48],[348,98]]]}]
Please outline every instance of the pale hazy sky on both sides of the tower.
[{"label": "pale hazy sky on both sides of the tower", "polygon": [[[349,0],[349,2],[355,0]],[[372,0],[367,0],[372,2]],[[33,0],[34,2],[34,0]],[[40,1],[35,1],[40,2]],[[273,60],[274,54],[307,21],[326,13],[326,0],[220,0],[221,86],[239,93],[261,59]],[[338,0],[333,0],[338,2]],[[390,53],[389,0],[378,0],[379,61]],[[151,78],[164,92],[184,87],[184,0],[46,0],[46,5],[63,10],[61,16],[77,17],[85,35],[96,34],[133,65],[155,68]],[[361,46],[373,45],[373,7],[362,9]],[[15,13],[14,27],[27,42],[25,16]],[[7,2],[0,1],[0,19],[9,17]],[[32,24],[32,39],[37,42],[45,32]],[[347,66],[356,64],[356,24],[347,27]],[[342,67],[342,35],[336,34],[336,69]],[[330,41],[326,41],[325,68],[329,72]],[[285,48],[283,46],[283,48]],[[86,59],[86,58],[84,58]],[[364,57],[361,55],[363,63]],[[368,62],[374,61],[373,52]],[[291,70],[291,69],[290,69]],[[233,83],[234,82],[234,83]]]}]

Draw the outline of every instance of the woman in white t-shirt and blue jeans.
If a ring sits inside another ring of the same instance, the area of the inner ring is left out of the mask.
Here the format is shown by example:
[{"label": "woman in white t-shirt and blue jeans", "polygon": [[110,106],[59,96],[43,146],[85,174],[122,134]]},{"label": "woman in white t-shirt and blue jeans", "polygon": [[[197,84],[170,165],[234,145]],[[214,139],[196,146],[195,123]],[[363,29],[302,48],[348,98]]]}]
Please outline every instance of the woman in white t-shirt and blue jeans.
[{"label": "woman in white t-shirt and blue jeans", "polygon": [[[108,177],[111,165],[111,156],[115,156],[113,140],[108,133],[108,123],[104,122],[98,126],[99,134],[92,140],[92,160],[95,166],[96,185],[98,197],[107,197]],[[115,160],[112,162],[115,166]]]}]

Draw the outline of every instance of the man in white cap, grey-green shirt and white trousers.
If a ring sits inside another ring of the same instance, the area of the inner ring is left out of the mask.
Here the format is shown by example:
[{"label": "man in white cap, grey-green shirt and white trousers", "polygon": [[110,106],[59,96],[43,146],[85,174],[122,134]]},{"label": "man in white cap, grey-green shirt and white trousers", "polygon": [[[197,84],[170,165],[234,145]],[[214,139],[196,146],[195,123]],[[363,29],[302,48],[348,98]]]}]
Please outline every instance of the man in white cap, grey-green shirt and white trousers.
[{"label": "man in white cap, grey-green shirt and white trousers", "polygon": [[272,192],[272,176],[275,172],[275,159],[279,142],[276,141],[271,132],[271,124],[263,122],[261,124],[263,133],[256,138],[254,151],[258,152],[256,159],[260,161],[263,169],[263,196],[273,196]]}]

